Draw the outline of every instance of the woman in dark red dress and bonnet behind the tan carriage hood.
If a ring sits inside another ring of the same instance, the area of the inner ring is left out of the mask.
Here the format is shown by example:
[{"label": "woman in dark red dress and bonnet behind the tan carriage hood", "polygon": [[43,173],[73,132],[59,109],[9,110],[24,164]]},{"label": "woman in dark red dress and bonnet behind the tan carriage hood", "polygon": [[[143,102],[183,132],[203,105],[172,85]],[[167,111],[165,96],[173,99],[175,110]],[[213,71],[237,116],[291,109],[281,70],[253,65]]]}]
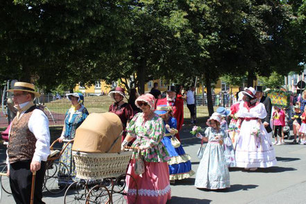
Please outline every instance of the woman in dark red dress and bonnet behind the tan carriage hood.
[{"label": "woman in dark red dress and bonnet behind the tan carriage hood", "polygon": [[110,91],[108,95],[114,99],[114,103],[110,105],[108,112],[117,114],[121,119],[122,125],[124,126],[124,133],[122,134],[121,141],[124,141],[124,138],[126,137],[127,123],[134,117],[133,108],[130,104],[124,102],[124,97],[126,96],[124,94],[124,88],[116,87],[114,90]]}]

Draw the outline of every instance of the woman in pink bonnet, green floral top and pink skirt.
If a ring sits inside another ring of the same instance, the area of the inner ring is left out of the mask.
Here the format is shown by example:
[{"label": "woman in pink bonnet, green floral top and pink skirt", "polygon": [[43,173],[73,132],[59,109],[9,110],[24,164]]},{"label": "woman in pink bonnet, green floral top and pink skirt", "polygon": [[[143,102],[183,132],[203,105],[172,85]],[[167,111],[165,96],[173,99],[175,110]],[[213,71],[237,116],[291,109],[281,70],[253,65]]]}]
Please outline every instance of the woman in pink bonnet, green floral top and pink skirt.
[{"label": "woman in pink bonnet, green floral top and pink skirt", "polygon": [[[139,157],[135,149],[127,173],[135,178],[137,186],[134,180],[126,178],[127,203],[163,204],[171,199],[167,163],[170,158],[167,148],[162,144],[165,133],[164,121],[154,112],[154,103],[155,98],[152,94],[144,94],[136,99],[135,104],[142,112],[137,113],[128,124],[126,128],[128,135],[121,144],[121,149],[124,149],[128,142],[136,138],[132,147],[140,150],[145,165],[144,173],[137,175],[135,159]],[[137,201],[135,201],[136,187],[138,188]]]}]

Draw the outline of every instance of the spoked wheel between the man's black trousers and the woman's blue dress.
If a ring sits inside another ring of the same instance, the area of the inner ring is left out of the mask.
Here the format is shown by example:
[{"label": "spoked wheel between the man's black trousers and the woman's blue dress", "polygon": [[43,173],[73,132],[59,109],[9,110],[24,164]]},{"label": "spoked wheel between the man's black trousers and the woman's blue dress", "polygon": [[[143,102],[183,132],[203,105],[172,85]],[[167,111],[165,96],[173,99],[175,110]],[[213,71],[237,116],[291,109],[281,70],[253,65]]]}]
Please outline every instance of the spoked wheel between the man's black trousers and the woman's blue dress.
[{"label": "spoked wheel between the man's black trousers and the woman's blue dress", "polygon": [[66,164],[60,161],[54,161],[46,167],[44,174],[44,187],[51,194],[59,194],[65,191],[71,180],[70,176],[61,176],[60,172],[69,172]]}]

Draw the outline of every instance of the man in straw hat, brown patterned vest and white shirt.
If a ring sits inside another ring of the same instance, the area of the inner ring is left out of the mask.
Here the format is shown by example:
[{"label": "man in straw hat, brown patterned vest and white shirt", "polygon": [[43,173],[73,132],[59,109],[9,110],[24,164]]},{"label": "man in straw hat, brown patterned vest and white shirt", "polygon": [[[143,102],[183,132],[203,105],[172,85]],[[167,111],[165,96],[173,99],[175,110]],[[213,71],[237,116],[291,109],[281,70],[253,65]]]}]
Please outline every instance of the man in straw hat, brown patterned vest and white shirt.
[{"label": "man in straw hat, brown patterned vest and white shirt", "polygon": [[42,201],[45,161],[50,154],[49,121],[46,114],[33,103],[35,92],[31,83],[17,82],[8,92],[18,112],[12,121],[8,144],[8,174],[16,203],[31,200],[32,175],[36,172],[34,203]]}]

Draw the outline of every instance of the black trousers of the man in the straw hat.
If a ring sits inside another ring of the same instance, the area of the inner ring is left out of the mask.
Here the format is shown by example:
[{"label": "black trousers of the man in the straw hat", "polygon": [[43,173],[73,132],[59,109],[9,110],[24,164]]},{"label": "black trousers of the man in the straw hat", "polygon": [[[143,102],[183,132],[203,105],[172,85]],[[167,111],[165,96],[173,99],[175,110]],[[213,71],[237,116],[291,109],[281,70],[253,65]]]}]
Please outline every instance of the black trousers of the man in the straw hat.
[{"label": "black trousers of the man in the straw hat", "polygon": [[[31,201],[32,172],[31,160],[24,160],[10,164],[10,189],[17,204],[29,204]],[[42,185],[46,162],[41,162],[40,170],[36,172],[34,204],[43,204]]]}]

